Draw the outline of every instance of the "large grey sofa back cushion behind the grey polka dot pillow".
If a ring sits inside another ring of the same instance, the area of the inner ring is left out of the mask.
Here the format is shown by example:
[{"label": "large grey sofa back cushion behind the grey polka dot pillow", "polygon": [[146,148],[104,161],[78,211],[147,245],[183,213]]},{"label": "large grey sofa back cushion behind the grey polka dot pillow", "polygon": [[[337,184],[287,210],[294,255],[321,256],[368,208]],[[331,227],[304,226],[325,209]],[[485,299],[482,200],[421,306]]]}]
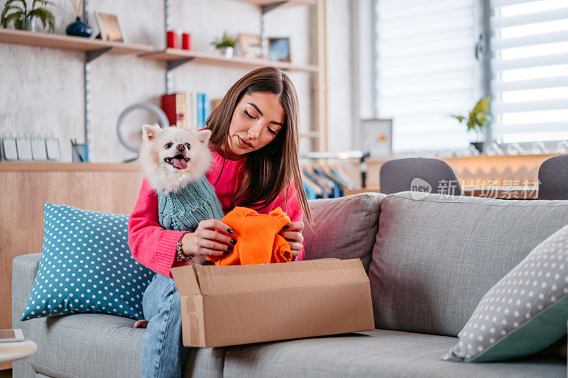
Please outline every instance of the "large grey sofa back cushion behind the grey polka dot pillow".
[{"label": "large grey sofa back cushion behind the grey polka dot pillow", "polygon": [[484,294],[567,223],[568,201],[387,196],[369,269],[376,328],[457,335]]}]

